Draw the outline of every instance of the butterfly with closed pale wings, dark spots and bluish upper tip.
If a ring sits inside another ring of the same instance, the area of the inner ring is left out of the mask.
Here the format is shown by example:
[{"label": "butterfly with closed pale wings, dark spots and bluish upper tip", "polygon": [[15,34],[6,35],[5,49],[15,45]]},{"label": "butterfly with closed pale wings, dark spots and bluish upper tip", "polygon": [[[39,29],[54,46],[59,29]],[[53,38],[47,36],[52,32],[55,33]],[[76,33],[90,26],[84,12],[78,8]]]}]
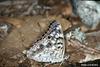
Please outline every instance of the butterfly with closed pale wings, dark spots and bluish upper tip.
[{"label": "butterfly with closed pale wings, dark spots and bluish upper tip", "polygon": [[60,23],[54,20],[46,34],[41,40],[32,44],[26,55],[38,62],[62,62],[65,57],[65,42]]}]

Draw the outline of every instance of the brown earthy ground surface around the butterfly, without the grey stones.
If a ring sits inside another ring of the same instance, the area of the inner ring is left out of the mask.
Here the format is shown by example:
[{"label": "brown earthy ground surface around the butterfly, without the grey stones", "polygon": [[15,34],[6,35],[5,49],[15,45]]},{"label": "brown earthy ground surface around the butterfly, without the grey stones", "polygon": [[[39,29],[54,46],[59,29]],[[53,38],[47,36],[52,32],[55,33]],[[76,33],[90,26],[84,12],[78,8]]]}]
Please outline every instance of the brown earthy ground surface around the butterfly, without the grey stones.
[{"label": "brown earthy ground surface around the butterfly, without the grey stones", "polygon": [[[36,3],[37,1],[39,2]],[[69,59],[61,66],[58,63],[47,65],[47,67],[73,67],[77,62],[100,59],[99,25],[98,31],[97,28],[92,30],[80,22],[79,17],[73,16],[70,0],[68,2],[66,0],[8,0],[0,2],[0,7],[0,23],[7,22],[13,25],[11,32],[4,40],[0,40],[0,67],[44,67],[44,63],[30,60],[22,52],[45,34],[50,21],[53,20],[61,23],[63,31],[69,27],[73,28],[74,25],[80,26],[81,31],[87,35],[88,45],[85,49],[81,49],[77,41],[74,41],[72,45],[66,43]],[[98,49],[99,52],[90,54],[93,50],[88,50],[87,47]]]}]

